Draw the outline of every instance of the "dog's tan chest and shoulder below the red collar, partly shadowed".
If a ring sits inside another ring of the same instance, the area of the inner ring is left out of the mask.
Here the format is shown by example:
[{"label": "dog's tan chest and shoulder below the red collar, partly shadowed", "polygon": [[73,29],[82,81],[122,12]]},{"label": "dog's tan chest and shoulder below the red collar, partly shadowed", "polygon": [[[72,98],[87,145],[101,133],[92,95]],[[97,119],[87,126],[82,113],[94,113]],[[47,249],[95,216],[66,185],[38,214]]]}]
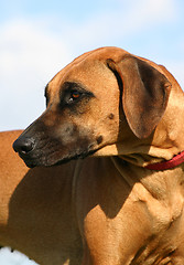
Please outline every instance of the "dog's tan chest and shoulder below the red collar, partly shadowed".
[{"label": "dog's tan chest and shoulder below the red collar, partly shadowed", "polygon": [[111,177],[110,167],[106,174],[99,167],[98,176],[90,176],[89,165],[86,170],[77,188],[77,218],[90,254],[99,261],[95,264],[175,261],[182,250],[178,239],[184,239],[182,176],[148,177],[130,186],[115,170]]}]

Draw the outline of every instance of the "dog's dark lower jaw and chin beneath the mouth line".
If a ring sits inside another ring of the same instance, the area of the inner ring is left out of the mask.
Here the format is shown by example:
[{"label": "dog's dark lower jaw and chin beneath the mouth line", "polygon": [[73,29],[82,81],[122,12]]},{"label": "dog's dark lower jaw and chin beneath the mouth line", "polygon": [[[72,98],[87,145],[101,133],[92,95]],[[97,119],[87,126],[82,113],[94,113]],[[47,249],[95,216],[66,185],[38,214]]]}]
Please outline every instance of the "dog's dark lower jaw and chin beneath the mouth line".
[{"label": "dog's dark lower jaw and chin beneath the mouth line", "polygon": [[79,155],[75,155],[75,156],[68,156],[68,157],[64,157],[61,159],[25,159],[22,158],[24,163],[26,165],[28,168],[35,168],[35,167],[53,167],[53,166],[61,166],[64,163],[67,163],[72,160],[77,160],[77,159],[85,159],[86,157],[93,156],[97,150],[90,150],[88,152],[83,152]]}]

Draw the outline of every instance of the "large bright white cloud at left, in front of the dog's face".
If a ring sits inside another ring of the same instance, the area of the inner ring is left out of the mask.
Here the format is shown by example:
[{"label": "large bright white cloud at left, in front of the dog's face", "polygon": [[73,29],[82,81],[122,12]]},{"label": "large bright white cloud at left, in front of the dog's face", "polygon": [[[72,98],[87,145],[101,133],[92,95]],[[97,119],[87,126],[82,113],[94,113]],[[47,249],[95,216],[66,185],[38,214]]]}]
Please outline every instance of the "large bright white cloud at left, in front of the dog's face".
[{"label": "large bright white cloud at left, in front of the dog's face", "polygon": [[0,29],[0,129],[24,128],[43,112],[44,86],[69,51],[40,24],[15,20]]}]

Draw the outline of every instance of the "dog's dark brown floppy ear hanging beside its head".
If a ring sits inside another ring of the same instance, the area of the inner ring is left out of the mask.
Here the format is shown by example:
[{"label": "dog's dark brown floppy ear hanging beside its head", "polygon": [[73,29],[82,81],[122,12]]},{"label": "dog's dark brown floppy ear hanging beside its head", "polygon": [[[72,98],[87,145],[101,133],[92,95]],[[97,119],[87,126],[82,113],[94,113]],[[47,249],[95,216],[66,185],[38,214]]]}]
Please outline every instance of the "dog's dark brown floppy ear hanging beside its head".
[{"label": "dog's dark brown floppy ear hanging beside its head", "polygon": [[171,83],[149,63],[131,55],[118,63],[108,59],[107,65],[122,83],[122,107],[131,130],[138,138],[148,137],[164,114]]}]

